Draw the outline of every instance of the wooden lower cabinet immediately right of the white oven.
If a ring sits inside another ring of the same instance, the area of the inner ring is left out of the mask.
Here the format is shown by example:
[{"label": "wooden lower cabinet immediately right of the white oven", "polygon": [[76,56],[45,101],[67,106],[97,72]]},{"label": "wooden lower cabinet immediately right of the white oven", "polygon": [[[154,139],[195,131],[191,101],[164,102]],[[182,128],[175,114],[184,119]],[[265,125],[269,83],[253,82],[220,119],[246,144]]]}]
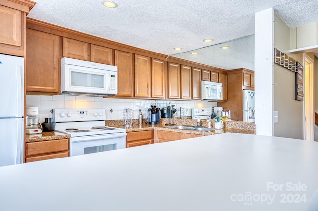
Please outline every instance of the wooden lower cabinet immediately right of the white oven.
[{"label": "wooden lower cabinet immediately right of the white oven", "polygon": [[128,132],[126,136],[126,148],[153,143],[152,130]]}]

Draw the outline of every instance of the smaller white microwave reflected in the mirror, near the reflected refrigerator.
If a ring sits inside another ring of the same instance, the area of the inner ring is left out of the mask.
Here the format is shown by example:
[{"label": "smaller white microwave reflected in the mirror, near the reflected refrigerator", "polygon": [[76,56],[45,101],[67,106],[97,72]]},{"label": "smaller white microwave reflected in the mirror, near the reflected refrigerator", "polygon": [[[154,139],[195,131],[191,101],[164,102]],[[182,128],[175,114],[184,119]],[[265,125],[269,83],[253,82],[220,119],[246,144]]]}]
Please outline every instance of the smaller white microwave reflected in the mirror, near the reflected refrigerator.
[{"label": "smaller white microwave reflected in the mirror, near the reflected refrigerator", "polygon": [[201,100],[218,101],[223,99],[222,83],[201,81]]}]

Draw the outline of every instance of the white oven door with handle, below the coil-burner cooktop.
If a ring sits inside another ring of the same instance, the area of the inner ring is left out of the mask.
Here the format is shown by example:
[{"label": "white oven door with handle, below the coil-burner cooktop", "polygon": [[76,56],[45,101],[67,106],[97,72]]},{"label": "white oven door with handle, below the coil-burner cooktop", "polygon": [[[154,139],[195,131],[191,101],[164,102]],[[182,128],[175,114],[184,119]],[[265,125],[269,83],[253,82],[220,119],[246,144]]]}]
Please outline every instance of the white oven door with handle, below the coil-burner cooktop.
[{"label": "white oven door with handle, below the coil-burner cooktop", "polygon": [[80,136],[70,138],[70,156],[126,148],[127,133]]}]

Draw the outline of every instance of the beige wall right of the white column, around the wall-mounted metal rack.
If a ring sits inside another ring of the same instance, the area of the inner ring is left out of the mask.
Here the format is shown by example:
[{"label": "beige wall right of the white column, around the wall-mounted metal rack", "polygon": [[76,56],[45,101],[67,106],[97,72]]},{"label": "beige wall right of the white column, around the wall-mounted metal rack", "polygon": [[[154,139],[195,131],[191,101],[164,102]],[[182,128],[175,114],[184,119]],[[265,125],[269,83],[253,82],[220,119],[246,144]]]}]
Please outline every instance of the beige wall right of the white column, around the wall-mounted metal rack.
[{"label": "beige wall right of the white column, around the wall-mounted metal rack", "polygon": [[[275,15],[274,39],[276,47],[288,53],[290,29]],[[303,63],[303,54],[291,55]],[[279,65],[274,66],[274,111],[278,111],[278,122],[274,123],[274,136],[303,139],[303,102],[295,100],[295,73]]]}]

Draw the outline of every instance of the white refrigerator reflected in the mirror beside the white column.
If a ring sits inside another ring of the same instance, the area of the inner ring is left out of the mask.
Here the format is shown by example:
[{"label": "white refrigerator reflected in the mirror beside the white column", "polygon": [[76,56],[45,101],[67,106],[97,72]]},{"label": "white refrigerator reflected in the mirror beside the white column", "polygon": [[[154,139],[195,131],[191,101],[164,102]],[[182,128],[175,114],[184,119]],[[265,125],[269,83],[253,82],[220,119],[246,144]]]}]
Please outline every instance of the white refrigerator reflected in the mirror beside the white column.
[{"label": "white refrigerator reflected in the mirror beside the white column", "polygon": [[243,121],[255,122],[255,91],[243,90]]}]

